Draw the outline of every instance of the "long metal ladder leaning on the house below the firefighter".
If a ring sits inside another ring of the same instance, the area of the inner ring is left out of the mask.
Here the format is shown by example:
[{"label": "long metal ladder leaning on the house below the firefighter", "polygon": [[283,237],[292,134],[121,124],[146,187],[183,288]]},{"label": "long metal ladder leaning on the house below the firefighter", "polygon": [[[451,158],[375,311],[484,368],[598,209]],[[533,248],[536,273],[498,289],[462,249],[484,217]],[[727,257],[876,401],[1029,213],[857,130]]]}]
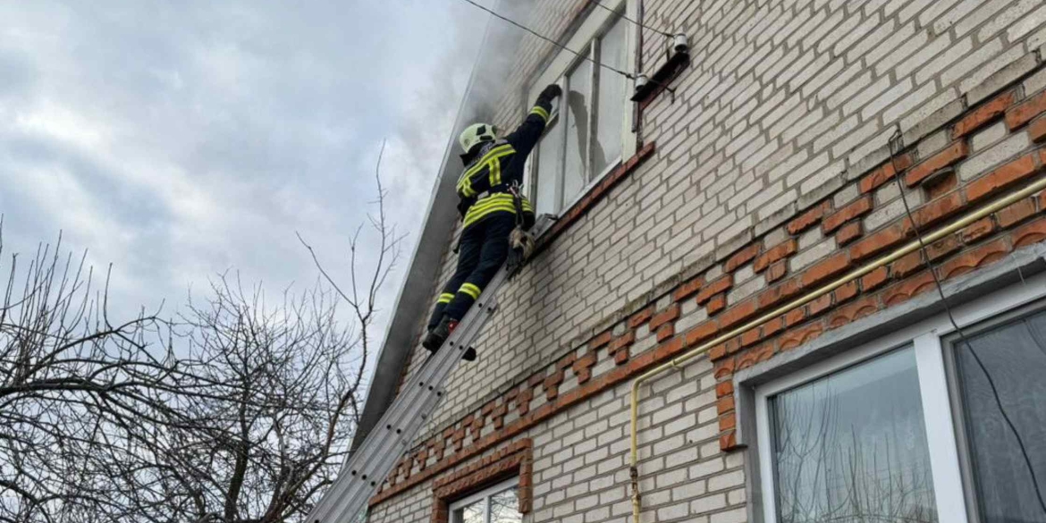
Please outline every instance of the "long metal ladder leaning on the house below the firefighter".
[{"label": "long metal ladder leaning on the house below the firefighter", "polygon": [[[533,227],[540,236],[552,224],[542,215]],[[483,332],[498,308],[498,290],[508,278],[502,266],[479,299],[436,354],[403,384],[400,394],[363,444],[349,456],[335,483],[309,513],[306,523],[356,523],[363,521],[367,501],[378,493],[400,458],[410,450],[414,437],[446,395],[444,382],[457,368],[461,355]]]}]

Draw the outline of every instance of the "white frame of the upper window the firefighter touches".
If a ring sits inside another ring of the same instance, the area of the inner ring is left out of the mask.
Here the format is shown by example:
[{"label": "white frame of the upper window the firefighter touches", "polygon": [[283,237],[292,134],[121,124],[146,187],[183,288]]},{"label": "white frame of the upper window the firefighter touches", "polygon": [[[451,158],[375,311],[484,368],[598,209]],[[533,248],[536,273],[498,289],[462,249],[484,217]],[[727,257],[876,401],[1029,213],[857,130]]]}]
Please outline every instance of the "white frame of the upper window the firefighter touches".
[{"label": "white frame of the upper window the firefighter touches", "polygon": [[[570,74],[570,72],[572,72],[579,64],[582,64],[586,60],[589,59],[595,60],[596,56],[599,56],[602,37],[605,37],[607,32],[609,32],[609,30],[611,29],[611,27],[613,27],[615,23],[618,22],[627,23],[626,20],[621,19],[619,16],[616,15],[618,13],[618,9],[621,9],[623,7],[624,15],[633,19],[637,16],[638,13],[637,0],[617,0],[614,2],[605,2],[604,4],[610,9],[612,9],[614,13],[611,13],[611,10],[601,7],[596,7],[596,6],[590,7],[592,10],[585,14],[584,21],[582,21],[581,25],[577,27],[577,29],[565,44],[565,46],[569,49],[574,49],[578,52],[583,52],[584,50],[584,55],[578,56],[570,51],[561,49],[552,59],[551,63],[545,68],[544,72],[542,72],[538,76],[537,81],[530,86],[530,89],[528,90],[527,93],[527,99],[526,99],[527,104],[532,103],[532,100],[537,98],[538,93],[540,93],[541,90],[544,89],[544,87],[549,84],[559,85],[560,87],[563,88],[564,93],[566,93],[569,89],[567,77]],[[636,42],[637,42],[636,31],[632,30],[630,26],[627,24],[624,30],[624,42],[622,43],[622,45],[624,46],[624,55],[626,55],[624,70],[627,71],[635,70]],[[599,60],[599,62],[602,61]],[[565,124],[566,118],[561,117],[560,115],[561,111],[560,103],[556,104],[556,107],[552,111],[552,114],[549,115],[548,121],[546,122],[546,129],[551,128],[553,124],[556,124],[556,129],[554,129],[553,132],[560,135],[559,139],[561,139],[563,142],[563,157],[560,159],[560,173],[556,177],[556,180],[554,181],[554,187],[552,192],[553,199],[556,201],[556,203],[562,202],[562,205],[552,206],[552,208],[554,209],[552,214],[554,215],[563,215],[563,213],[566,210],[570,209],[577,202],[583,200],[585,198],[585,195],[591,191],[592,188],[595,187],[604,178],[606,178],[610,173],[614,172],[614,169],[619,167],[627,158],[630,158],[636,154],[636,149],[637,149],[636,133],[633,131],[633,126],[630,122],[630,119],[632,119],[632,117],[634,116],[634,112],[632,111],[634,103],[631,101],[628,98],[628,96],[626,96],[624,99],[621,100],[621,107],[620,107],[621,114],[623,116],[621,118],[621,133],[620,133],[621,152],[616,159],[612,159],[611,161],[609,161],[607,166],[604,167],[601,172],[599,173],[590,172],[592,165],[592,154],[594,149],[592,147],[592,143],[595,140],[595,134],[597,132],[593,123],[596,122],[596,117],[597,117],[596,113],[598,112],[598,109],[595,104],[597,103],[597,95],[599,92],[599,78],[602,77],[602,75],[608,72],[608,71],[600,72],[597,71],[597,69],[599,69],[599,66],[597,66],[594,63],[591,64],[589,91],[590,91],[590,98],[593,100],[593,103],[590,104],[588,111],[588,122],[587,122],[589,129],[589,135],[587,137],[589,141],[588,158],[586,158],[585,162],[586,173],[583,173],[584,183],[582,185],[582,188],[574,196],[568,197],[564,195],[564,184],[566,181],[566,176],[564,176],[566,167],[564,164],[566,162],[567,126]],[[626,94],[628,94],[629,88],[630,86],[628,86],[627,84]],[[527,109],[529,109],[529,107]],[[523,186],[526,187],[527,195],[529,195],[531,198],[535,198],[536,200],[535,205],[541,205],[537,202],[536,198],[538,195],[539,177],[537,170],[539,163],[538,157],[540,156],[539,150],[541,147],[541,142],[550,133],[546,132],[545,134],[542,135],[541,139],[538,141],[538,144],[535,146],[535,150],[530,155],[531,158],[527,159],[527,166],[524,172]]]}]

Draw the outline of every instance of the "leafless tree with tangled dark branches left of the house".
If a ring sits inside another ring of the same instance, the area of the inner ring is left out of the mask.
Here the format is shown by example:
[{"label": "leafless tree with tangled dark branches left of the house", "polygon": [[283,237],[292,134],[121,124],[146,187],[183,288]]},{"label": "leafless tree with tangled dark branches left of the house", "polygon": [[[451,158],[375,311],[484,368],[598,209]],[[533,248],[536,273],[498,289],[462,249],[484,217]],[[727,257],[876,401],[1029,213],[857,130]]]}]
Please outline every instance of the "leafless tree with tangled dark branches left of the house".
[{"label": "leafless tree with tangled dark branches left of the house", "polygon": [[108,285],[92,290],[84,257],[42,247],[24,275],[13,257],[0,523],[303,518],[347,452],[379,292],[400,255],[376,178],[377,212],[349,240],[349,282],[299,235],[320,278],[272,303],[227,273],[175,320],[113,323]]}]

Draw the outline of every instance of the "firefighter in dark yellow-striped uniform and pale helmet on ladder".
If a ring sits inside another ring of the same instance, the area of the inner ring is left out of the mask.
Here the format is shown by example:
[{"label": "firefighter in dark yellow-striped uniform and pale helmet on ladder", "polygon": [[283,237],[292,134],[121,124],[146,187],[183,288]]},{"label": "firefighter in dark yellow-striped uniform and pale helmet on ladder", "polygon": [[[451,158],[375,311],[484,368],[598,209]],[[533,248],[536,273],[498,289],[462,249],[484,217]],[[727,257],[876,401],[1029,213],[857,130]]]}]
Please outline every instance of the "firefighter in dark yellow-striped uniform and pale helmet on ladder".
[{"label": "firefighter in dark yellow-striped uniform and pale helmet on ladder", "polygon": [[[425,348],[439,349],[508,257],[509,236],[523,238],[520,232],[533,225],[533,206],[520,192],[523,165],[562,93],[558,85],[546,87],[523,123],[503,139],[488,123],[469,126],[458,137],[464,172],[457,181],[462,220],[457,270],[432,311]],[[475,350],[469,348],[463,358],[475,360]]]}]

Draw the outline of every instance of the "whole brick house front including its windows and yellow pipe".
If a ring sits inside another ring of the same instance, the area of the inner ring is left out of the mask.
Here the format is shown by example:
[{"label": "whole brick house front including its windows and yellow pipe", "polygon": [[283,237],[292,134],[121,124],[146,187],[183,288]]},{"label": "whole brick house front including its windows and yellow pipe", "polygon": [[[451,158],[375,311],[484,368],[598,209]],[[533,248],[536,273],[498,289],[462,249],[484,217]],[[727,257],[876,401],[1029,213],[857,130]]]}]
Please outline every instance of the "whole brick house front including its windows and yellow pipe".
[{"label": "whole brick house front including its windows and yellow pipe", "polygon": [[[599,3],[490,49],[470,116],[564,87],[559,220],[369,521],[1046,522],[1046,6]],[[363,432],[428,355],[448,158]]]}]

